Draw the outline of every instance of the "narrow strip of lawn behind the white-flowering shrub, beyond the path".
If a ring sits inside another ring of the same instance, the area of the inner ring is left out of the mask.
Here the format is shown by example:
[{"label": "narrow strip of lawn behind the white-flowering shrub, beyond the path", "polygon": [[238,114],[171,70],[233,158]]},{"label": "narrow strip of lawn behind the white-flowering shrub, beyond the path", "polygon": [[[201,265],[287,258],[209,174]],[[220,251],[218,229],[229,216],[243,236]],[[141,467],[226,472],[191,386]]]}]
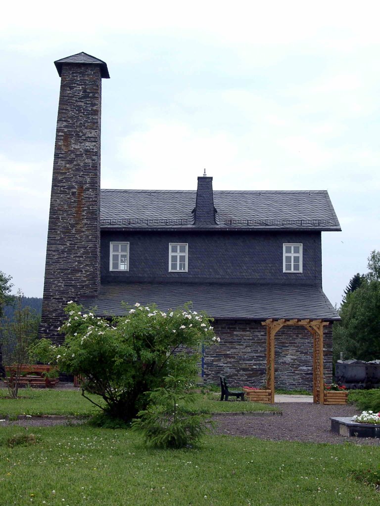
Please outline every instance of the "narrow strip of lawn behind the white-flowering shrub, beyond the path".
[{"label": "narrow strip of lawn behind the white-flowering shrub, beyond the path", "polygon": [[[41,415],[80,415],[90,416],[99,408],[84,399],[78,390],[21,389],[19,399],[6,399],[7,389],[0,389],[0,418],[19,414]],[[98,396],[92,397],[99,403]],[[277,411],[278,408],[269,404],[254,402],[229,401],[220,402],[219,394],[197,394],[195,411],[203,410],[210,413],[231,411]]]}]

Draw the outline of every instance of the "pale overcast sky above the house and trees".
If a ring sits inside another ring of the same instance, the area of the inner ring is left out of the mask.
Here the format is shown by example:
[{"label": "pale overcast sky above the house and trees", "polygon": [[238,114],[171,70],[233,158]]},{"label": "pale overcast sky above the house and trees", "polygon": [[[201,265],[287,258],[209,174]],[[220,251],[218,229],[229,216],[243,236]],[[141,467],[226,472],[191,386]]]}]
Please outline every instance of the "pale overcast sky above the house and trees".
[{"label": "pale overcast sky above the house and trees", "polygon": [[380,249],[378,2],[18,2],[0,19],[0,270],[42,297],[60,79],[108,65],[102,188],[325,190],[332,304]]}]

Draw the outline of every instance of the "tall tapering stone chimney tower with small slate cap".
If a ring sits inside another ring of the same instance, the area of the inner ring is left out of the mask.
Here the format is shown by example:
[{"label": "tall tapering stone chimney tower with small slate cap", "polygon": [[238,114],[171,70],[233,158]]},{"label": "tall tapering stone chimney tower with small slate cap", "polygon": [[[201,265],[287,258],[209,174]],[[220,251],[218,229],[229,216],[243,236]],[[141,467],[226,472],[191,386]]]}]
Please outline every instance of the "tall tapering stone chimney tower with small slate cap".
[{"label": "tall tapering stone chimney tower with small slate cap", "polygon": [[100,112],[106,63],[86,53],[54,62],[61,77],[40,336],[59,343],[69,300],[100,285]]}]

